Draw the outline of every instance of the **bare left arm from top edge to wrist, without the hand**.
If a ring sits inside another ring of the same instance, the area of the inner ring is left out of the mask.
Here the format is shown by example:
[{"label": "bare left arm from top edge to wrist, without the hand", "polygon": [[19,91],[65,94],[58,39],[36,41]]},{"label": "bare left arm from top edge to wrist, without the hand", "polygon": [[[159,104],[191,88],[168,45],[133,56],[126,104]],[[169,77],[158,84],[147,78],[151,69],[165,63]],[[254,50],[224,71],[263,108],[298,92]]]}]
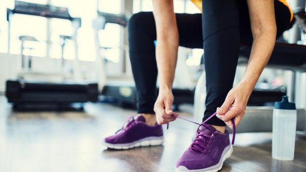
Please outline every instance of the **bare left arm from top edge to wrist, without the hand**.
[{"label": "bare left arm from top edge to wrist, without the hand", "polygon": [[179,46],[179,34],[172,0],[154,0],[157,30],[156,61],[160,90],[171,90]]}]

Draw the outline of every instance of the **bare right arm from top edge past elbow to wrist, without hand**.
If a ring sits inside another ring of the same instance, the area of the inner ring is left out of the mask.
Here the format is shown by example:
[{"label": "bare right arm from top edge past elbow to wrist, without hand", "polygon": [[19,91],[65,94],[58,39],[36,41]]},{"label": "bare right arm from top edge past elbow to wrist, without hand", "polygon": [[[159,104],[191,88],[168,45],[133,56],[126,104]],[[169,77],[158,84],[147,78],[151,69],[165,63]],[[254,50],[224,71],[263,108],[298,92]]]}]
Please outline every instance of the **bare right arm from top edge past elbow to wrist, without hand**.
[{"label": "bare right arm from top edge past elbow to wrist, without hand", "polygon": [[273,51],[276,39],[276,22],[273,0],[247,0],[247,4],[253,44],[241,83],[251,93]]}]

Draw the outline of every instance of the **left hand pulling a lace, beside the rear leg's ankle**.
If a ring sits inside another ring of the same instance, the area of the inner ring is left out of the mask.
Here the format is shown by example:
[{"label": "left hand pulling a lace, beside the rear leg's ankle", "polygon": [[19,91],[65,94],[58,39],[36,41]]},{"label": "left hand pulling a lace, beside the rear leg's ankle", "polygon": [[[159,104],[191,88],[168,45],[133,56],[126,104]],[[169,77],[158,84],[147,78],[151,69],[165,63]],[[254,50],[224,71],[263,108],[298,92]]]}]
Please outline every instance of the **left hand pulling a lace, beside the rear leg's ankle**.
[{"label": "left hand pulling a lace, beside the rear leg's ankle", "polygon": [[175,116],[172,116],[173,112],[171,110],[173,100],[174,97],[171,90],[160,90],[154,105],[156,120],[159,125],[167,124],[176,119]]}]

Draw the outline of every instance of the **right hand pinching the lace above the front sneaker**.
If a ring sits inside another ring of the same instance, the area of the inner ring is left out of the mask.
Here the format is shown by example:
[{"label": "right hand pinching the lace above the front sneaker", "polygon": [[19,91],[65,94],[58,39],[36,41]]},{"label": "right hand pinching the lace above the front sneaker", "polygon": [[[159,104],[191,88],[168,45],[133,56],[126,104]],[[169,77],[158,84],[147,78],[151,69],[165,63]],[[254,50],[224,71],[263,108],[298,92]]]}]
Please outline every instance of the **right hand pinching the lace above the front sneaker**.
[{"label": "right hand pinching the lace above the front sneaker", "polygon": [[246,104],[252,92],[252,89],[247,89],[248,86],[245,83],[237,84],[228,92],[222,106],[217,108],[216,116],[231,129],[233,129],[231,119],[234,118],[235,124],[238,126],[244,116]]}]

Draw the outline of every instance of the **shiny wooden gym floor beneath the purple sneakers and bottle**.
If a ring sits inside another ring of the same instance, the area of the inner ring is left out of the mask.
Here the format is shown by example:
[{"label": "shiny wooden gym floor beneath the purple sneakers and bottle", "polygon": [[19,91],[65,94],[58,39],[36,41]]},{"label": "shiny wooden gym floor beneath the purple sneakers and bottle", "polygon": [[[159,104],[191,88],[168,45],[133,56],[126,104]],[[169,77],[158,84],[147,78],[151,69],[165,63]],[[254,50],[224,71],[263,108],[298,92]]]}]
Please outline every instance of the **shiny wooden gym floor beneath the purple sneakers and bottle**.
[{"label": "shiny wooden gym floor beneath the purple sneakers and bottle", "polygon": [[[12,112],[0,97],[0,171],[174,171],[195,133],[194,124],[176,120],[164,146],[107,150],[101,139],[135,111],[91,103],[85,111]],[[192,108],[184,111],[191,119]],[[238,134],[236,139],[222,171],[306,171],[305,138],[297,137],[293,161],[271,158],[271,133]]]}]

